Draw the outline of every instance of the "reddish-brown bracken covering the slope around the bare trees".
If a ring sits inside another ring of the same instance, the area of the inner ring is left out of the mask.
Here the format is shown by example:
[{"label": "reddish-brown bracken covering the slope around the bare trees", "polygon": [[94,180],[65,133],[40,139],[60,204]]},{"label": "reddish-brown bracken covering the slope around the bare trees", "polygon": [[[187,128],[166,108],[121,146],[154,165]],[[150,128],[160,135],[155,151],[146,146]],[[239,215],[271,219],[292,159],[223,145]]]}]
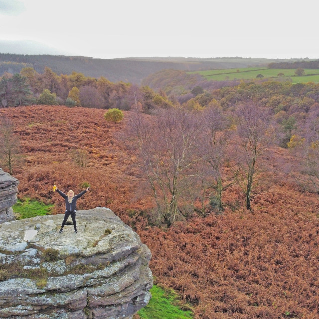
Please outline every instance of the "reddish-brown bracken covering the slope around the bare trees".
[{"label": "reddish-brown bracken covering the slope around the bare trees", "polygon": [[[61,106],[0,109],[0,116],[13,121],[25,156],[13,169],[18,197],[54,203],[53,213],[63,213],[53,184],[77,193],[89,183],[78,209],[109,207],[134,227],[152,251],[156,282],[190,302],[195,318],[319,318],[317,195],[277,172],[256,189],[252,211],[244,209],[234,186],[224,193],[223,215],[151,227],[138,212],[151,210],[152,197],[138,191],[135,157],[117,139],[130,113],[119,124],[106,122],[104,113]],[[87,151],[85,168],[72,161],[72,149]],[[290,160],[284,149],[275,149],[274,156]]]}]

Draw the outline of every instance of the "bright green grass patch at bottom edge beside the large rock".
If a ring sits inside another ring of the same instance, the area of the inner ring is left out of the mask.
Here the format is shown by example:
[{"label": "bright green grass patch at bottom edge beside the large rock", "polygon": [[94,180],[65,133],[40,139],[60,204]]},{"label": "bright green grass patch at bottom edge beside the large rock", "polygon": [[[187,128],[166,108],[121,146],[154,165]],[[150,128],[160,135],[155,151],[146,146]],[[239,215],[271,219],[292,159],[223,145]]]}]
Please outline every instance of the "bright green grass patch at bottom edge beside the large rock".
[{"label": "bright green grass patch at bottom edge beside the large rock", "polygon": [[[142,308],[138,315],[141,319],[190,319],[190,310],[181,310],[180,298],[171,289],[163,289],[154,285],[151,289],[152,298],[149,304]],[[188,307],[189,308],[189,307]]]}]

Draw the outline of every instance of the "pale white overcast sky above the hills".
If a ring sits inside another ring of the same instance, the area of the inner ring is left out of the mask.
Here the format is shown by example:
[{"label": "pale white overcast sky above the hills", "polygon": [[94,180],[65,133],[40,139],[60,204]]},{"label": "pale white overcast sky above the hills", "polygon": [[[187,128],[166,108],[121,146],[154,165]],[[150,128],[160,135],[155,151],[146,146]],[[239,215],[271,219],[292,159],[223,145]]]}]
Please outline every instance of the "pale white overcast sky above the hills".
[{"label": "pale white overcast sky above the hills", "polygon": [[319,58],[318,9],[313,0],[0,0],[0,41],[95,58]]}]

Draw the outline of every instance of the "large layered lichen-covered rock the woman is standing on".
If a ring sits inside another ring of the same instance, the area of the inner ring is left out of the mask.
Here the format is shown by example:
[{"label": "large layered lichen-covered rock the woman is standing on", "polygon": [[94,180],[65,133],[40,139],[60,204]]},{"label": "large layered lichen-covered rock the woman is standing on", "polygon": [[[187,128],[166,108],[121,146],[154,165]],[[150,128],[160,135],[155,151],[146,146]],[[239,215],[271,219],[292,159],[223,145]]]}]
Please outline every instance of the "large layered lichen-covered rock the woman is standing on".
[{"label": "large layered lichen-covered rock the woman is standing on", "polygon": [[110,209],[77,211],[77,234],[63,217],[1,225],[0,318],[132,318],[151,297],[148,247]]}]

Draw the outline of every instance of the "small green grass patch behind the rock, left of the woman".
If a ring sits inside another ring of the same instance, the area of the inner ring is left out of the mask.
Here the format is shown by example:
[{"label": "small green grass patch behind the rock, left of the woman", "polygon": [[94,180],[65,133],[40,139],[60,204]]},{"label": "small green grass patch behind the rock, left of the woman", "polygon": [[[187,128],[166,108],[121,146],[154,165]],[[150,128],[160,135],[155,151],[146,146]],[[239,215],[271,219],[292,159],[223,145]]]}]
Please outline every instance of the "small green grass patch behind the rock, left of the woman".
[{"label": "small green grass patch behind the rock, left of the woman", "polygon": [[45,205],[44,203],[38,202],[36,200],[24,198],[23,200],[18,199],[17,203],[14,204],[12,208],[13,212],[18,215],[16,219],[23,219],[35,216],[50,215],[53,206],[53,204]]}]

